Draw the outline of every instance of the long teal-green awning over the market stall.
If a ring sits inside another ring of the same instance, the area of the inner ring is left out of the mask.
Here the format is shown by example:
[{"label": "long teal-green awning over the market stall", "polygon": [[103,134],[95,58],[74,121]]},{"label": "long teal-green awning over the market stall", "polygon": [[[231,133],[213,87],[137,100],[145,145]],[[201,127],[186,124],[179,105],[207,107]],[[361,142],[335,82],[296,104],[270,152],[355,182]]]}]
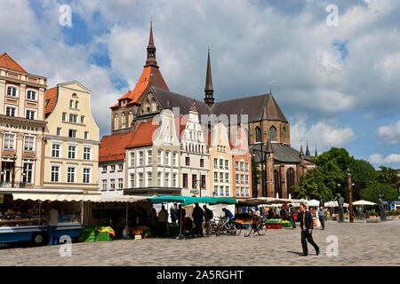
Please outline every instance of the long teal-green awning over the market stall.
[{"label": "long teal-green awning over the market stall", "polygon": [[228,198],[228,197],[191,197],[191,196],[156,196],[151,197],[148,199],[150,203],[163,203],[163,202],[176,202],[182,203],[183,206],[193,203],[208,203],[208,204],[236,204],[237,201],[235,198]]}]

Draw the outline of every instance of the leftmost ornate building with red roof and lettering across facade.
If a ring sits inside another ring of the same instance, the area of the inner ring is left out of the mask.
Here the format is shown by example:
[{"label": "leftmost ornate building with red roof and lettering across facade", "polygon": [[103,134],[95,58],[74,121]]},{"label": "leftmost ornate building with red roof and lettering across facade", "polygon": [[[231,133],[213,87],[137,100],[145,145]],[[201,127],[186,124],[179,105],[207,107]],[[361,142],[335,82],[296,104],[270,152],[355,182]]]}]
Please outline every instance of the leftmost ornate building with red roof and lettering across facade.
[{"label": "leftmost ornate building with red roof and lettering across facade", "polygon": [[0,55],[0,187],[43,185],[44,76],[29,74]]}]

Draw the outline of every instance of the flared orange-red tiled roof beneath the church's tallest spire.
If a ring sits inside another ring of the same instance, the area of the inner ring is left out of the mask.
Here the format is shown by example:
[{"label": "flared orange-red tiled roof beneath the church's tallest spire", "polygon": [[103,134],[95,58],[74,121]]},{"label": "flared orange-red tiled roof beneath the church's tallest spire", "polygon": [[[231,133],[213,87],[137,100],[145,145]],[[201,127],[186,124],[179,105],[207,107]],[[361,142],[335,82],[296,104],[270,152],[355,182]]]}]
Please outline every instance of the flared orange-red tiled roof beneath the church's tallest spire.
[{"label": "flared orange-red tiled roof beneath the church's tallest spire", "polygon": [[[160,70],[157,67],[148,66],[143,68],[140,79],[138,83],[136,83],[133,91],[127,92],[123,97],[119,98],[118,101],[122,99],[129,99],[130,101],[128,106],[134,103],[140,104],[149,86],[156,86],[160,89],[169,91]],[[111,106],[111,108],[117,106],[119,106],[119,102],[116,105]]]}]

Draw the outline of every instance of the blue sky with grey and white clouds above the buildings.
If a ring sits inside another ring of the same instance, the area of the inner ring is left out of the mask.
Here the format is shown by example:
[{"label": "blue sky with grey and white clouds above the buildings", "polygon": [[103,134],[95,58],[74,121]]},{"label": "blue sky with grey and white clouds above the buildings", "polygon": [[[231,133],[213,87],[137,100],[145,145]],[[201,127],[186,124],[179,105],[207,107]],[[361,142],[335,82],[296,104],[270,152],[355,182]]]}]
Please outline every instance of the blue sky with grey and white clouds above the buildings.
[{"label": "blue sky with grey and white clouds above the buildings", "polygon": [[294,148],[345,147],[400,169],[398,14],[398,0],[2,0],[0,52],[46,76],[48,88],[83,83],[101,138],[109,106],[140,77],[153,17],[170,91],[204,98],[211,43],[216,101],[272,83]]}]

